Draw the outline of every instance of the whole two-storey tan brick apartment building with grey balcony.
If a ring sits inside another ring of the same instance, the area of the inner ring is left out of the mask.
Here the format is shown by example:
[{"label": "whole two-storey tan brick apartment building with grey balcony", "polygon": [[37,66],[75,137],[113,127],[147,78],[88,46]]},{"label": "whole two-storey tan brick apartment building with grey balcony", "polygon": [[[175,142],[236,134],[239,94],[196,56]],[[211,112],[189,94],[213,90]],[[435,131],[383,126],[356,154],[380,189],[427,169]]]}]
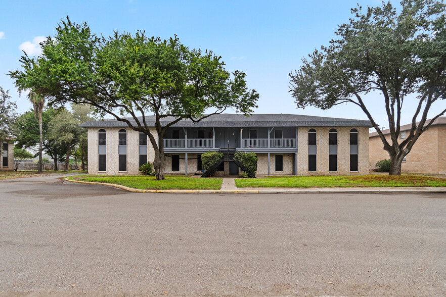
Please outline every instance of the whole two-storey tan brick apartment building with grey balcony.
[{"label": "whole two-storey tan brick apartment building with grey balcony", "polygon": [[[166,123],[171,120],[165,119]],[[154,121],[154,116],[146,117],[157,137]],[[141,164],[154,159],[146,135],[123,122],[88,121],[80,126],[88,128],[88,173],[137,174]],[[364,120],[291,114],[221,114],[196,124],[182,120],[164,133],[163,170],[166,174],[201,173],[202,153],[229,146],[256,153],[258,174],[368,174],[370,126]],[[216,175],[238,174],[234,165],[225,162]]]}]

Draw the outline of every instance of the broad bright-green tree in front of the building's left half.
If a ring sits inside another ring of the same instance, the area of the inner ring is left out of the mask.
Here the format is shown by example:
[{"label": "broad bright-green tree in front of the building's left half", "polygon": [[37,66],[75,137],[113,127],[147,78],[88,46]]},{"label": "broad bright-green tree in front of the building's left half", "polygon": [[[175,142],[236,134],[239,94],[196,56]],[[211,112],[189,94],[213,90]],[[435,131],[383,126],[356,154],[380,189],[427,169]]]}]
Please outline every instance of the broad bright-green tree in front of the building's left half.
[{"label": "broad bright-green tree in front of the building's left half", "polygon": [[[11,76],[33,81],[52,104],[90,104],[101,117],[111,115],[147,134],[155,151],[156,179],[164,179],[167,128],[229,108],[249,115],[256,107],[258,93],[247,88],[245,73],[228,72],[221,57],[191,50],[176,36],[161,40],[138,31],[98,38],[85,23],[68,18],[56,30],[43,42],[43,54],[36,61],[22,57],[24,70]],[[34,63],[36,67],[28,66]],[[146,115],[155,115],[155,133]]]}]

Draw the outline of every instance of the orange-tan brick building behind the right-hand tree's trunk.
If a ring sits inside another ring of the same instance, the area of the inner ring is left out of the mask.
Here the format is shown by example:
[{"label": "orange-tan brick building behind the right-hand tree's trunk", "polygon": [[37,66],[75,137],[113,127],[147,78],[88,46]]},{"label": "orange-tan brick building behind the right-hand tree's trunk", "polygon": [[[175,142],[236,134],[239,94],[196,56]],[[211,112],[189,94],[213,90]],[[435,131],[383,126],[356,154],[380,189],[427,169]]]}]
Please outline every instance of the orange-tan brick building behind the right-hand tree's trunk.
[{"label": "orange-tan brick building behind the right-hand tree's trunk", "polygon": [[[427,123],[430,120],[426,121]],[[418,123],[417,123],[418,125]],[[409,135],[412,124],[401,126],[398,140],[403,141]],[[391,144],[390,131],[382,131]],[[369,135],[370,169],[375,169],[376,162],[389,159],[384,151],[383,143],[377,132]],[[425,132],[421,134],[412,147],[411,152],[402,163],[403,172],[446,174],[446,117],[437,118]]]}]

